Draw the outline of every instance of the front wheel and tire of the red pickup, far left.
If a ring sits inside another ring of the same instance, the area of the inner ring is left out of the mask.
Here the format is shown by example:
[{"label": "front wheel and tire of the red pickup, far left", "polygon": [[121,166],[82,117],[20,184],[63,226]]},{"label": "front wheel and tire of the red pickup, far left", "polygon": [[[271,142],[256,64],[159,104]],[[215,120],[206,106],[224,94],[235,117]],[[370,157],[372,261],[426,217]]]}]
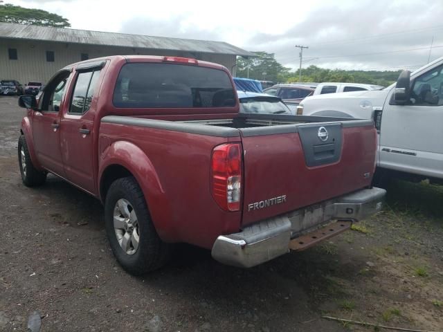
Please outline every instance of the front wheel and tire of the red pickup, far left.
[{"label": "front wheel and tire of the red pickup, far left", "polygon": [[25,136],[23,135],[19,138],[18,154],[21,181],[23,181],[24,185],[26,185],[26,187],[43,185],[46,181],[46,172],[41,172],[34,167],[33,160],[30,158]]}]

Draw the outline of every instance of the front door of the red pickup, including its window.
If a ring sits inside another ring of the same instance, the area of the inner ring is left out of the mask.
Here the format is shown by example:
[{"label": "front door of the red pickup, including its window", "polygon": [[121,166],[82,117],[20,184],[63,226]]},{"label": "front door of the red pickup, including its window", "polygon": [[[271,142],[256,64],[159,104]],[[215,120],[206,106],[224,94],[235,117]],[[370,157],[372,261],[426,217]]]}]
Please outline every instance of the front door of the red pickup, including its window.
[{"label": "front door of the red pickup, including its window", "polygon": [[41,165],[49,172],[66,177],[60,150],[60,110],[66,102],[69,71],[53,78],[39,100],[39,110],[33,113],[35,152]]}]

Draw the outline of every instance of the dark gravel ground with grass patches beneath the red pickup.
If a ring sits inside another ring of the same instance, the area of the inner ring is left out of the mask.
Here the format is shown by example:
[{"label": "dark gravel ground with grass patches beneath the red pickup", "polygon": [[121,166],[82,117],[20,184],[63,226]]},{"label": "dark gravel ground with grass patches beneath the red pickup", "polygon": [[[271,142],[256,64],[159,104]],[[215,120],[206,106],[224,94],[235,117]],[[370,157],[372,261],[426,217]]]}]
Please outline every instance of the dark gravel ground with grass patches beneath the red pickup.
[{"label": "dark gravel ground with grass patches beneath the red pickup", "polygon": [[[0,331],[373,331],[322,315],[443,331],[443,190],[393,183],[359,228],[248,270],[177,247],[132,277],[114,259],[100,202],[49,176],[22,185],[17,98],[0,96]],[[391,194],[392,193],[392,194]]]}]

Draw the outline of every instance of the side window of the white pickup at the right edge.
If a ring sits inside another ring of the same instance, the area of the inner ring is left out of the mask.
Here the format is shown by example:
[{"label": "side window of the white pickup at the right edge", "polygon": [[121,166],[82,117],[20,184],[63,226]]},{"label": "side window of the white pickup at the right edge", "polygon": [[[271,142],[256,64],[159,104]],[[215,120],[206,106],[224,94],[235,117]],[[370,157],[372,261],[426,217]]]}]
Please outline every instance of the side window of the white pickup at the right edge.
[{"label": "side window of the white pickup at the right edge", "polygon": [[422,106],[443,105],[443,66],[417,77],[410,94],[410,102]]}]

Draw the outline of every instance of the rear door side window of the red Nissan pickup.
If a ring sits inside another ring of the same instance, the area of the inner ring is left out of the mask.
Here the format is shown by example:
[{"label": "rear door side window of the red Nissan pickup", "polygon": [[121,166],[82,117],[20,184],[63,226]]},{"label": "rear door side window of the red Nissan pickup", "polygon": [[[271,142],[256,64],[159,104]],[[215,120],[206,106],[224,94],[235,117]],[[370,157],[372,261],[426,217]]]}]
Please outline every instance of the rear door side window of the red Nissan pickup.
[{"label": "rear door side window of the red Nissan pickup", "polygon": [[99,76],[100,70],[82,72],[78,74],[69,113],[80,115],[89,111],[93,95],[96,92]]}]

